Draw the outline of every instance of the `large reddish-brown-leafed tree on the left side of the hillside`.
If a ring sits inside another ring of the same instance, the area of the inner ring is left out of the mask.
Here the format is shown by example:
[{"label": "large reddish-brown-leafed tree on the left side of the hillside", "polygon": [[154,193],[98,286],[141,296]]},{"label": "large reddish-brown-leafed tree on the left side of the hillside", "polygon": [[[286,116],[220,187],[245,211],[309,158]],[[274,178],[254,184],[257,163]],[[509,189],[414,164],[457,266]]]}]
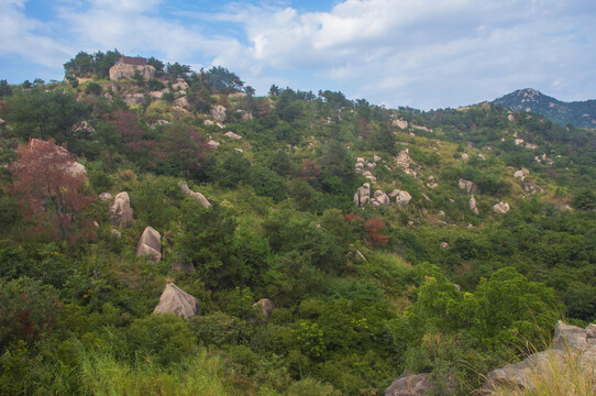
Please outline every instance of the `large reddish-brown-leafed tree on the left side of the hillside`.
[{"label": "large reddish-brown-leafed tree on the left side of the hillside", "polygon": [[53,240],[92,239],[95,232],[85,208],[95,198],[82,193],[85,168],[75,155],[53,140],[38,139],[20,145],[16,152],[18,161],[9,166],[12,194],[35,224],[33,230]]}]

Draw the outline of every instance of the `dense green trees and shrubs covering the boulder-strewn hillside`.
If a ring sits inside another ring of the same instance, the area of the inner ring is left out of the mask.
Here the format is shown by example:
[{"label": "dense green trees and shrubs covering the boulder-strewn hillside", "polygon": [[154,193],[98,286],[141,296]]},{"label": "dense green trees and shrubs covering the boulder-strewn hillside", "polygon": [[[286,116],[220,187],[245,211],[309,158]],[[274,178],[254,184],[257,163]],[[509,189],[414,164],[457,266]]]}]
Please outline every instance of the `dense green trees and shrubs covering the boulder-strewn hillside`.
[{"label": "dense green trees and shrubs covering the boulder-strewn hillside", "polygon": [[[379,395],[404,370],[468,394],[558,318],[596,320],[594,131],[495,106],[255,97],[224,68],[154,58],[155,79],[103,81],[117,55],[78,54],[63,82],[0,84],[3,394]],[[214,106],[220,125],[205,122]],[[71,155],[84,180],[65,172]],[[368,182],[354,164],[373,156],[372,188],[409,205],[354,206]],[[121,238],[104,191],[130,195]],[[156,264],[135,256],[147,226]],[[172,271],[180,260],[194,274]],[[200,316],[152,315],[169,282]],[[269,318],[253,308],[265,297]]]}]

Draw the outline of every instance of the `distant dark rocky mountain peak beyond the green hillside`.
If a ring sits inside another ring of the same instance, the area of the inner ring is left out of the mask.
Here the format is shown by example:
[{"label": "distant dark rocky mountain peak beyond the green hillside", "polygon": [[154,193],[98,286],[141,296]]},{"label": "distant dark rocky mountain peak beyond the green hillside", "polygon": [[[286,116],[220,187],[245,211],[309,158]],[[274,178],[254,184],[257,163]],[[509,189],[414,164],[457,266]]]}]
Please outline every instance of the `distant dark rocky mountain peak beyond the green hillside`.
[{"label": "distant dark rocky mountain peak beyond the green hillside", "polygon": [[514,111],[532,111],[561,125],[571,123],[575,127],[596,128],[596,100],[564,102],[526,88],[495,99],[492,103]]}]

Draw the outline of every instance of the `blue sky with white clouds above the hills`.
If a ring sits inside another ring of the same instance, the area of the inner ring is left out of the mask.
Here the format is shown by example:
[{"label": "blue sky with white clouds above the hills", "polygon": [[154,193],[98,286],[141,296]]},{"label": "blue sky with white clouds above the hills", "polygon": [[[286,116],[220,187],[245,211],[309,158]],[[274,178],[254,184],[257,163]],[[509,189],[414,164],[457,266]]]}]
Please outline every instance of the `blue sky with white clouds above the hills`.
[{"label": "blue sky with white clouds above the hills", "polygon": [[0,0],[0,79],[62,80],[79,51],[429,110],[534,88],[596,99],[594,0]]}]

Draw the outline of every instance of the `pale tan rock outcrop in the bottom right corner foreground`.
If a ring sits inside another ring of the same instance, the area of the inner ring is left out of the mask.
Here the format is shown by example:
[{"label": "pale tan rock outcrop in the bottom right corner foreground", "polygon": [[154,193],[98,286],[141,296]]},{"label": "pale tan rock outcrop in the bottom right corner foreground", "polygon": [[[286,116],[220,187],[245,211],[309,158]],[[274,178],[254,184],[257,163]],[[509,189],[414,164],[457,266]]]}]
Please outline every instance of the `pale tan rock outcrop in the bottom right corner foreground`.
[{"label": "pale tan rock outcrop in the bottom right corner foreground", "polygon": [[[570,359],[572,355],[577,360]],[[556,364],[555,370],[559,372],[570,369],[577,371],[577,367],[567,367],[570,360],[596,375],[596,324],[582,329],[559,321],[550,349],[531,354],[521,362],[492,371],[481,391],[489,394],[496,386],[534,391],[534,378],[548,376],[553,370],[553,364]]]}]

